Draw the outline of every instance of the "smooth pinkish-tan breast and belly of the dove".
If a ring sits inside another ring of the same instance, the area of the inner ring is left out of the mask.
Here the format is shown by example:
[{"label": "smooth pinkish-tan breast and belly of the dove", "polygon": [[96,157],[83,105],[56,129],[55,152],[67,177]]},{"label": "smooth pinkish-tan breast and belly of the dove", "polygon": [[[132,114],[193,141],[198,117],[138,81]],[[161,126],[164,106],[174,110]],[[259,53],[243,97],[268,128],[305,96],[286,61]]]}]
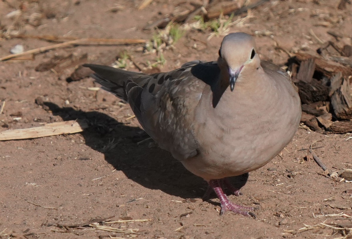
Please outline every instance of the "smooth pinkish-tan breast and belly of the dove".
[{"label": "smooth pinkish-tan breast and belly of the dove", "polygon": [[203,97],[194,122],[199,153],[182,161],[184,166],[206,180],[220,179],[251,172],[274,158],[294,136],[301,117],[294,85],[278,79],[261,79],[250,90],[235,85],[216,108]]}]

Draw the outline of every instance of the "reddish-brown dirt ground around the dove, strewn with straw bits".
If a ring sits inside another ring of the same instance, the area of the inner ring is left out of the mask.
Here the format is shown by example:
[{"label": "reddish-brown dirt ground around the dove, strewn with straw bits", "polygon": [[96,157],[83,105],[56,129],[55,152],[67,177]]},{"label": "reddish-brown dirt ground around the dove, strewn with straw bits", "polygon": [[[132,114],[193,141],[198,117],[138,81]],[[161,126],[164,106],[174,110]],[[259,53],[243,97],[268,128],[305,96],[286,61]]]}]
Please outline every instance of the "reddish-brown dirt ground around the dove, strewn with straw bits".
[{"label": "reddish-brown dirt ground around the dove, strewn with straw bits", "polygon": [[[156,30],[143,30],[146,24],[197,1],[155,0],[138,10],[141,2],[2,0],[0,29],[9,34],[149,40]],[[317,49],[318,38],[334,40],[329,30],[352,37],[352,5],[339,10],[338,2],[268,1],[234,17],[242,21],[228,32],[255,35],[261,58],[282,66],[289,56],[276,43],[294,53]],[[117,10],[111,11],[113,7]],[[20,9],[14,24],[7,14]],[[174,47],[164,50],[166,63],[158,67],[168,71],[189,60],[215,60],[222,36],[208,40],[210,33],[190,28]],[[55,43],[4,37],[0,57],[17,44],[31,50]],[[87,62],[110,64],[124,50],[144,67],[147,61],[155,62],[156,53],[143,53],[142,47],[79,45],[37,54],[33,60],[0,62],[0,106],[5,102],[1,131],[77,118],[90,125],[77,134],[0,142],[0,238],[352,238],[344,237],[350,233],[347,229],[321,224],[351,227],[351,182],[325,177],[314,160],[304,160],[314,143],[313,147],[320,147],[315,154],[329,169],[352,169],[349,135],[299,128],[269,164],[233,180],[243,186],[244,195],[230,199],[259,207],[257,219],[233,213],[220,217],[218,199],[201,200],[206,182],[168,152],[152,147],[151,141],[138,143],[148,136],[131,117],[128,105],[102,90],[88,90],[97,86],[92,78],[67,82],[62,77],[67,73],[34,70],[56,55],[69,53],[88,53]],[[137,71],[133,64],[128,69]],[[36,104],[37,97],[45,107]],[[94,219],[132,221],[103,224],[124,232],[119,233],[99,230],[102,223],[93,224],[98,228],[86,226]]]}]

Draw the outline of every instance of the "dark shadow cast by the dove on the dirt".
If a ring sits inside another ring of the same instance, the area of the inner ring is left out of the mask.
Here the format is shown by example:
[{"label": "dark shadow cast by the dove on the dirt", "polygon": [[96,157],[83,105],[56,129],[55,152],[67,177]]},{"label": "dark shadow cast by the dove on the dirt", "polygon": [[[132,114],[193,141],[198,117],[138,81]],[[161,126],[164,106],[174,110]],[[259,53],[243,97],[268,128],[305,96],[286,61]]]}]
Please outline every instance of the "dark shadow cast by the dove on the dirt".
[{"label": "dark shadow cast by the dove on the dirt", "polygon": [[[87,146],[104,154],[105,160],[121,170],[140,185],[159,189],[181,198],[199,198],[205,193],[207,183],[188,172],[181,162],[158,147],[149,148],[149,142],[137,144],[149,136],[138,127],[131,127],[97,111],[81,111],[71,107],[59,107],[44,102],[43,107],[64,121],[84,119],[89,128],[81,134]],[[248,174],[233,177],[234,186],[245,185]]]}]

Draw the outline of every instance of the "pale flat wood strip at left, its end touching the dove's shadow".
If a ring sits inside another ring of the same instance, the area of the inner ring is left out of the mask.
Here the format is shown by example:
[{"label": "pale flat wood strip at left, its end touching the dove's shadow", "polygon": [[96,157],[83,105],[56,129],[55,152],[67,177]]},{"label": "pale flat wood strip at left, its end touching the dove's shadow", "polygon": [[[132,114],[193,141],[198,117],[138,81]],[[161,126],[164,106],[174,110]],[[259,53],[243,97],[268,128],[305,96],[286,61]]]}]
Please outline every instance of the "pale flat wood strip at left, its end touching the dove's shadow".
[{"label": "pale flat wood strip at left, its end touching the dove's shadow", "polygon": [[86,120],[70,120],[63,122],[49,123],[44,126],[26,129],[8,129],[0,132],[0,141],[24,140],[52,135],[74,134],[88,128]]}]

